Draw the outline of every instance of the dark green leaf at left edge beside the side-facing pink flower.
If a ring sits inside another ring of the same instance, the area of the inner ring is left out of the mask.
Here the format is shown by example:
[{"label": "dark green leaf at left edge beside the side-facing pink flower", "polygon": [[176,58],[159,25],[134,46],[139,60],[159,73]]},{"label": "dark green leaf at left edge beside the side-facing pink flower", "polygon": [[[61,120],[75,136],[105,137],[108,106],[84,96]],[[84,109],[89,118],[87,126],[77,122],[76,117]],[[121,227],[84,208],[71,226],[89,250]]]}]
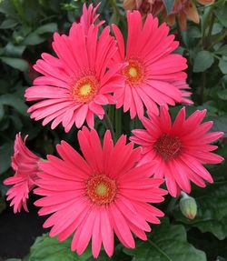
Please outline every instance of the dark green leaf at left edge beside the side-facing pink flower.
[{"label": "dark green leaf at left edge beside the side-facing pink flower", "polygon": [[0,147],[0,174],[11,166],[11,156],[14,153],[14,143],[8,142]]}]

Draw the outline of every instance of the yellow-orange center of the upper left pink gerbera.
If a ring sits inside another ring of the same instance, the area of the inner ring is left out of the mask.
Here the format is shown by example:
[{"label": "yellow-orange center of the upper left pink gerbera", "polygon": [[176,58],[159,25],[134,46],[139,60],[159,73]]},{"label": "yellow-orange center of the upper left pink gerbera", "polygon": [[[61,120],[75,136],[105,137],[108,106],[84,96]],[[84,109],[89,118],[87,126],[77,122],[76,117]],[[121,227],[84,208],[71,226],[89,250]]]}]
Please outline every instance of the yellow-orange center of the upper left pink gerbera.
[{"label": "yellow-orange center of the upper left pink gerbera", "polygon": [[93,75],[84,76],[77,80],[72,88],[72,95],[76,102],[89,103],[98,91],[98,81]]}]

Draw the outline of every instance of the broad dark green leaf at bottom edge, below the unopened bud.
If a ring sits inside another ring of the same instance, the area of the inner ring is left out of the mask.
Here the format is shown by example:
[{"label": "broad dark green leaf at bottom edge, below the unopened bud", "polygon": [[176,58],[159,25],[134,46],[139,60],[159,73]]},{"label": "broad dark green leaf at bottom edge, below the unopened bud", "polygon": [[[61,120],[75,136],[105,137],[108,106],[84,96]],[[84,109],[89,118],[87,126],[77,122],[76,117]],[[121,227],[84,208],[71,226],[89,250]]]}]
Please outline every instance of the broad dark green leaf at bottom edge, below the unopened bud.
[{"label": "broad dark green leaf at bottom edge, below the unopened bud", "polygon": [[133,261],[206,261],[205,254],[187,242],[184,227],[171,226],[167,218],[153,230],[151,239],[124,252],[133,256]]}]

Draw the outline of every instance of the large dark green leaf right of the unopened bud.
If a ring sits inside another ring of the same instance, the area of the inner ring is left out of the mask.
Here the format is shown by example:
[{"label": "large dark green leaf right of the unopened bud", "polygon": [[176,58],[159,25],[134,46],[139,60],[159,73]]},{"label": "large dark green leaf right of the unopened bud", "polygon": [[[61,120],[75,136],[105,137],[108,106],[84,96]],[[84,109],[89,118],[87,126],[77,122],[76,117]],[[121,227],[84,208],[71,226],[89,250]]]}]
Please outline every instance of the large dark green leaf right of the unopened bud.
[{"label": "large dark green leaf right of the unopened bud", "polygon": [[197,216],[189,220],[177,212],[176,220],[195,226],[202,232],[211,232],[220,240],[224,239],[227,236],[227,181],[215,182],[194,192],[192,196],[198,206]]}]

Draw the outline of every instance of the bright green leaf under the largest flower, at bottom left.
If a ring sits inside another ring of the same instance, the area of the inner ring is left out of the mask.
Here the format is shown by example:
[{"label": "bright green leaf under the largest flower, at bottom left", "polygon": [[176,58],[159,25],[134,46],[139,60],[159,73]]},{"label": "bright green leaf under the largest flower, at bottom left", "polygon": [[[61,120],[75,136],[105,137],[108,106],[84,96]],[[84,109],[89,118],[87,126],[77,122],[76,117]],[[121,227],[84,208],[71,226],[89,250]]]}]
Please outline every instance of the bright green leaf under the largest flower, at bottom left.
[{"label": "bright green leaf under the largest flower, at bottom left", "polygon": [[86,250],[82,256],[77,256],[70,250],[72,238],[59,242],[56,237],[38,236],[30,249],[28,261],[85,261],[92,256]]}]

